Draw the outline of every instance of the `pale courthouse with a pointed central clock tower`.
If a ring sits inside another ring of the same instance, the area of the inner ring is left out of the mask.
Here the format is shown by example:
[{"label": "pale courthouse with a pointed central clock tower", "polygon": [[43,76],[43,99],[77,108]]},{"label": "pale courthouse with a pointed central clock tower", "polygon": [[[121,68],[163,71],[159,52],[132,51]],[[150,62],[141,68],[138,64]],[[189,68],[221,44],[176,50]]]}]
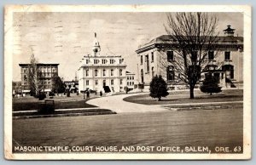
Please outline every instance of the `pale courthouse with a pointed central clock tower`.
[{"label": "pale courthouse with a pointed central clock tower", "polygon": [[87,89],[102,92],[120,92],[125,90],[125,61],[120,55],[102,55],[96,33],[92,53],[84,55],[80,61],[78,77],[79,92]]}]

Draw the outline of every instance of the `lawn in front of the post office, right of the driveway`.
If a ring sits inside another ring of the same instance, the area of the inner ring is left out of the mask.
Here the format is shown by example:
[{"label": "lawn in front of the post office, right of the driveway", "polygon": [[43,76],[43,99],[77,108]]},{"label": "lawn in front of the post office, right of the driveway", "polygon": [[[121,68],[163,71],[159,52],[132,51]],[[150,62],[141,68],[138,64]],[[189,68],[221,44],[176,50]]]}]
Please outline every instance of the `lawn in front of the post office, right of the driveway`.
[{"label": "lawn in front of the post office, right of the driveway", "polygon": [[205,103],[205,102],[229,102],[242,101],[243,90],[231,89],[224,90],[218,94],[204,94],[200,90],[195,90],[195,99],[189,99],[189,91],[171,91],[168,96],[161,101],[153,99],[149,94],[140,94],[130,96],[125,101],[143,104],[143,105],[168,105],[168,104],[186,104],[186,103]]}]

